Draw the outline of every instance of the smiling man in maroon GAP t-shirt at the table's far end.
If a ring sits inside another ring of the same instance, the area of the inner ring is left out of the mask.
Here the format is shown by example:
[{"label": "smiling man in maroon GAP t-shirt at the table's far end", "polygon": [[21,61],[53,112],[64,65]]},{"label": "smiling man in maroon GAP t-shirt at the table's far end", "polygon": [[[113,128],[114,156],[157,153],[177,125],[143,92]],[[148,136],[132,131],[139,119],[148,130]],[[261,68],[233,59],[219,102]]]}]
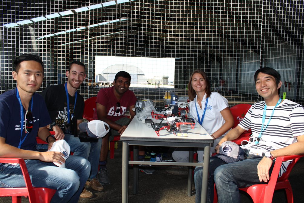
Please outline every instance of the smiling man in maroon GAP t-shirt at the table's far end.
[{"label": "smiling man in maroon GAP t-shirt at the table's far end", "polygon": [[[106,168],[106,158],[109,151],[109,141],[113,140],[113,136],[121,135],[127,128],[135,116],[132,110],[135,107],[136,97],[129,90],[131,84],[131,76],[125,71],[119,71],[114,78],[113,86],[101,89],[97,94],[96,111],[93,119],[102,120],[111,128],[111,135],[107,134],[102,138],[102,147],[99,158],[98,180],[101,184],[109,184],[108,170]],[[130,117],[125,116],[129,108]],[[145,151],[142,147],[139,150],[139,160],[143,160]],[[144,169],[141,171],[152,174],[154,169]]]}]

